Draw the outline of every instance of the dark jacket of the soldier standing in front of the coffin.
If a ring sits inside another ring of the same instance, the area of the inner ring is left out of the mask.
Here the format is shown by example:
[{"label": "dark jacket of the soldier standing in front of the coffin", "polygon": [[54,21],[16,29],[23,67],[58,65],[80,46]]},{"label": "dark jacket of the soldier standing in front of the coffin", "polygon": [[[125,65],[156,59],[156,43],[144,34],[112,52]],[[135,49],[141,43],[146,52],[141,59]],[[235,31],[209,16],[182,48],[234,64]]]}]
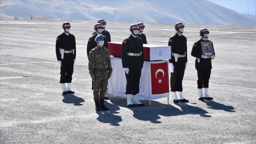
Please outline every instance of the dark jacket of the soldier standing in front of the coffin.
[{"label": "dark jacket of the soldier standing in front of the coffin", "polygon": [[[129,56],[127,53],[141,53],[140,56]],[[123,40],[121,58],[123,68],[142,69],[144,64],[143,42],[140,37],[130,35]]]}]

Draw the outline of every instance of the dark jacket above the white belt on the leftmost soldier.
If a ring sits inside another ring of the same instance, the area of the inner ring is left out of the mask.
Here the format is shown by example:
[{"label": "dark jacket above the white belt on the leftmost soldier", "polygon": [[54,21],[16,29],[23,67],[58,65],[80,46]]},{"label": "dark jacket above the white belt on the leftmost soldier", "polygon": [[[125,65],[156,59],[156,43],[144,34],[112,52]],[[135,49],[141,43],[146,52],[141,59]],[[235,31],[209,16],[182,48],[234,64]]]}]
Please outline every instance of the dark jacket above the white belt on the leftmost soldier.
[{"label": "dark jacket above the white belt on the leftmost soldier", "polygon": [[64,32],[59,35],[56,38],[56,45],[55,45],[55,49],[56,49],[56,56],[58,61],[61,60],[61,54],[59,53],[59,49],[62,48],[65,51],[69,51],[74,49],[74,54],[73,57],[75,59],[76,57],[76,48],[75,48],[75,36],[71,33],[69,33],[69,35],[67,36]]}]

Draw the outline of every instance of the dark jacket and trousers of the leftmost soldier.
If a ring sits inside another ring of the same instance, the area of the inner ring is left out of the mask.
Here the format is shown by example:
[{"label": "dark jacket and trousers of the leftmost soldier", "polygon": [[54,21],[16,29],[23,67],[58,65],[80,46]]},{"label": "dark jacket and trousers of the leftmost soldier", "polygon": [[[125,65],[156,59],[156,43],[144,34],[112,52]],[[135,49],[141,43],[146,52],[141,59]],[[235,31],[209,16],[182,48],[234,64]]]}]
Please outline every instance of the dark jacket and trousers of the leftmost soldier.
[{"label": "dark jacket and trousers of the leftmost soldier", "polygon": [[[67,36],[64,32],[56,38],[56,56],[61,60],[60,82],[71,83],[74,71],[74,59],[76,56],[75,36],[71,33]],[[61,59],[60,49],[64,49],[64,59]]]}]

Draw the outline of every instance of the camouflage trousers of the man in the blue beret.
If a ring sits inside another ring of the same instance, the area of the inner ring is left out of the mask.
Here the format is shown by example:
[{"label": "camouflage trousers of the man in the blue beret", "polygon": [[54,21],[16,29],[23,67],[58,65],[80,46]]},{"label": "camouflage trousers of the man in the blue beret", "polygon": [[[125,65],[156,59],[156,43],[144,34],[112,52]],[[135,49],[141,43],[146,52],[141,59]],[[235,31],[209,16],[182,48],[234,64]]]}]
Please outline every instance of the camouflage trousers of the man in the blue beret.
[{"label": "camouflage trousers of the man in the blue beret", "polygon": [[[107,80],[108,71],[105,72],[95,72],[95,81],[93,89],[94,100],[104,99],[105,92],[107,91]],[[100,92],[100,95],[99,95]]]}]

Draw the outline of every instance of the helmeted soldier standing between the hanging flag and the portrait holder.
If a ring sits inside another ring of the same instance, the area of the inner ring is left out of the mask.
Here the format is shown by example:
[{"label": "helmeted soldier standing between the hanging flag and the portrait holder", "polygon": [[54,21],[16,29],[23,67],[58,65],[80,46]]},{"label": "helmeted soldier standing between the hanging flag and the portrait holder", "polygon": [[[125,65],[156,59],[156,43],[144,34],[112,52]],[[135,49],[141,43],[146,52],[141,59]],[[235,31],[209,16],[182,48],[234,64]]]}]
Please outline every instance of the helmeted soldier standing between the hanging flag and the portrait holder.
[{"label": "helmeted soldier standing between the hanging flag and the portrait holder", "polygon": [[182,22],[177,22],[174,26],[176,33],[169,39],[168,46],[171,46],[171,94],[174,103],[189,102],[182,95],[182,80],[185,69],[187,69],[187,38],[182,35],[184,31]]}]

